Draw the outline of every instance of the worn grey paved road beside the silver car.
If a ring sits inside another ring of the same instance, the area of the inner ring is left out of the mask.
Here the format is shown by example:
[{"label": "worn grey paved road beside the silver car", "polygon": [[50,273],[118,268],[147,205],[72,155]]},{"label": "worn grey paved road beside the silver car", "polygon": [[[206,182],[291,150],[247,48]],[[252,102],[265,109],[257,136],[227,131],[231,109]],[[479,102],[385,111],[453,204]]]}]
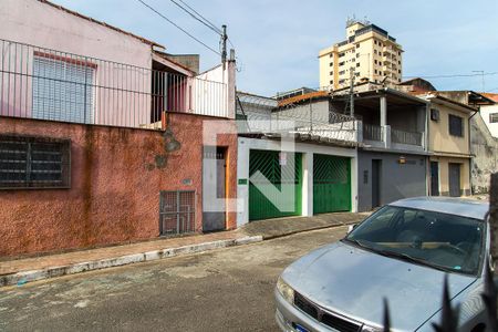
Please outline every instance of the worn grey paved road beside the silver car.
[{"label": "worn grey paved road beside the silver car", "polygon": [[1,331],[277,331],[273,287],[345,227],[0,289]]}]

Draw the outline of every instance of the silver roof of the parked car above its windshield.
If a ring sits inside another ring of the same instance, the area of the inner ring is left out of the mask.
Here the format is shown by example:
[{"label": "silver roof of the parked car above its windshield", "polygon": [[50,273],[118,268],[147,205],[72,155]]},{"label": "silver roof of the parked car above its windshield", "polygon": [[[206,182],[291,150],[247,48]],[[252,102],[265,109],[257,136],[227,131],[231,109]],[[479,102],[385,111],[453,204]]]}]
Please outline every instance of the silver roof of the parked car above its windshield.
[{"label": "silver roof of the parked car above its windshield", "polygon": [[489,203],[456,197],[414,197],[388,204],[391,206],[430,210],[484,220],[489,211]]}]

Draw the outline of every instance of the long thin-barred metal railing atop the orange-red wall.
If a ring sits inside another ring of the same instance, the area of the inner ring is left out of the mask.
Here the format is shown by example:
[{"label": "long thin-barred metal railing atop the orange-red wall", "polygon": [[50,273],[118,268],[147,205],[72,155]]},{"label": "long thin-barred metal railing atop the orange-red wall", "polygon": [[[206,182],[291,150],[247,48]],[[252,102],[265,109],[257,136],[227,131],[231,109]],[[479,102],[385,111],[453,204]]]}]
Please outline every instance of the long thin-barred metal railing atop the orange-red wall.
[{"label": "long thin-barred metal railing atop the orange-red wall", "polygon": [[0,116],[160,128],[164,112],[228,117],[226,83],[0,40]]}]

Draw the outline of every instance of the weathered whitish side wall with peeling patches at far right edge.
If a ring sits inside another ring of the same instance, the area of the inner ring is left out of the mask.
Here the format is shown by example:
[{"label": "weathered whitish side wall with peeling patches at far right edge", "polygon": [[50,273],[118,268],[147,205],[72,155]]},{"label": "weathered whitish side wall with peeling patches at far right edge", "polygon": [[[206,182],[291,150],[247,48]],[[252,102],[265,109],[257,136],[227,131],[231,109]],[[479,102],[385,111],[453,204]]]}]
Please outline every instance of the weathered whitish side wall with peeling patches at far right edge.
[{"label": "weathered whitish side wall with peeling patches at far right edge", "polygon": [[481,115],[470,120],[471,186],[474,194],[489,193],[491,174],[498,172],[498,139],[489,133]]}]

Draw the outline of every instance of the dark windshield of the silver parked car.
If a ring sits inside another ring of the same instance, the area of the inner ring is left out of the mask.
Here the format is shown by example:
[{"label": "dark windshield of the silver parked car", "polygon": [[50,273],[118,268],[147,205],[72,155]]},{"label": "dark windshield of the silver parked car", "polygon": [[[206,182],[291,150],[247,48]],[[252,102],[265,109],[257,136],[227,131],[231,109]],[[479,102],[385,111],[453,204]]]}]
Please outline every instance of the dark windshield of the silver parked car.
[{"label": "dark windshield of the silver parked car", "polygon": [[344,240],[384,256],[476,274],[484,225],[481,220],[460,216],[386,206]]}]

